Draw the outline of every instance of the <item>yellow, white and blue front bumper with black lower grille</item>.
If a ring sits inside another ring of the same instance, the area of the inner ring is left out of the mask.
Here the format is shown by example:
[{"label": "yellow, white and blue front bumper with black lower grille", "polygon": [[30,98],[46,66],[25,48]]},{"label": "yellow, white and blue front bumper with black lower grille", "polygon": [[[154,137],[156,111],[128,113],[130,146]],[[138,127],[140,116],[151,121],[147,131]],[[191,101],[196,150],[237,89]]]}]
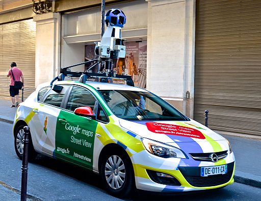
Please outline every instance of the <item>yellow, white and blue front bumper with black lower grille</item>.
[{"label": "yellow, white and blue front bumper with black lower grille", "polygon": [[[145,153],[144,153],[145,154]],[[144,158],[143,158],[144,159]],[[150,156],[147,160],[143,160],[142,165],[134,163],[135,181],[137,189],[154,191],[154,192],[180,192],[180,191],[194,191],[194,190],[206,190],[215,189],[227,186],[234,182],[233,175],[235,169],[234,156],[230,154],[226,160],[218,161],[216,164],[208,165],[205,163],[200,164],[198,167],[185,166],[180,167],[180,159],[161,159],[159,157],[154,158]],[[153,161],[152,163],[148,163]],[[179,163],[178,163],[179,162]],[[160,165],[161,164],[161,165]],[[171,165],[172,164],[172,165]],[[178,165],[179,164],[179,165]],[[215,166],[227,164],[228,171],[226,174],[212,175],[208,177],[200,176],[200,167],[202,166]],[[170,165],[172,168],[170,168]],[[173,168],[173,166],[175,166]],[[164,185],[152,181],[149,177],[147,170],[166,173],[174,177],[180,183],[179,186]]]}]

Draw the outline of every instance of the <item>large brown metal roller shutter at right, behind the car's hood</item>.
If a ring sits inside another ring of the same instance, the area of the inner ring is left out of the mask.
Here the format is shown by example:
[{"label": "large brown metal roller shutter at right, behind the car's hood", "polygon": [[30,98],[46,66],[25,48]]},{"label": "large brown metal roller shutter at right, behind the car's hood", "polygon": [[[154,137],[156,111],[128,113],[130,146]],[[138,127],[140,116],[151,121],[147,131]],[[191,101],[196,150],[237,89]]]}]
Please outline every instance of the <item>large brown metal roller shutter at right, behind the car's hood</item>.
[{"label": "large brown metal roller shutter at right, behind the car's hood", "polygon": [[261,135],[261,1],[196,2],[194,118]]}]

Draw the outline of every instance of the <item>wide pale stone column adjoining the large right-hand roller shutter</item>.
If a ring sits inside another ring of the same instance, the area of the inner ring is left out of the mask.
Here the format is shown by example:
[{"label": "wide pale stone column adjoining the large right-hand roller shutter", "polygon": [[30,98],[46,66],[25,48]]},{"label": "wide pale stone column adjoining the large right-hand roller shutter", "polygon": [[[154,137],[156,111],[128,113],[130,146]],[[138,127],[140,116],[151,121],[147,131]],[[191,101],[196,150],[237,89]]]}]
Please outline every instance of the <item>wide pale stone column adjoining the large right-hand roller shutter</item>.
[{"label": "wide pale stone column adjoining the large right-hand roller shutter", "polygon": [[193,117],[195,0],[146,1],[147,89]]}]

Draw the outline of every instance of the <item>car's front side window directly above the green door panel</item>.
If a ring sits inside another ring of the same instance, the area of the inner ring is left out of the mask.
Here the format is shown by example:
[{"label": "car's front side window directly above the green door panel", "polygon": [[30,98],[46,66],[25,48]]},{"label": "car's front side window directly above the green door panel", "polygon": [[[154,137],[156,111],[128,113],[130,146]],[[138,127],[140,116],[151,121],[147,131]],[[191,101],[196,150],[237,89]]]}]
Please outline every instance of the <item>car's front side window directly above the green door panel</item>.
[{"label": "car's front side window directly above the green door panel", "polygon": [[67,110],[74,111],[76,108],[89,106],[93,113],[94,111],[94,105],[95,105],[96,99],[91,94],[90,91],[87,89],[84,89],[82,87],[72,87],[68,103],[66,106]]}]

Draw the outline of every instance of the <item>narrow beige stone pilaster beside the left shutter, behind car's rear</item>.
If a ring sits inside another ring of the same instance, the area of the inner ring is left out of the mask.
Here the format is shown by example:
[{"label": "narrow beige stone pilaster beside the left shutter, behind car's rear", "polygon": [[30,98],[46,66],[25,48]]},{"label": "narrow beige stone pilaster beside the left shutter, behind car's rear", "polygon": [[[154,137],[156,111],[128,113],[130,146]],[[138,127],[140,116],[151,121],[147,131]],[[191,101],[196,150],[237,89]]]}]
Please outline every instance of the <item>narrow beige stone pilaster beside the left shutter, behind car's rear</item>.
[{"label": "narrow beige stone pilaster beside the left shutter, behind car's rear", "polygon": [[50,82],[60,70],[60,13],[34,16],[36,21],[35,85]]}]

